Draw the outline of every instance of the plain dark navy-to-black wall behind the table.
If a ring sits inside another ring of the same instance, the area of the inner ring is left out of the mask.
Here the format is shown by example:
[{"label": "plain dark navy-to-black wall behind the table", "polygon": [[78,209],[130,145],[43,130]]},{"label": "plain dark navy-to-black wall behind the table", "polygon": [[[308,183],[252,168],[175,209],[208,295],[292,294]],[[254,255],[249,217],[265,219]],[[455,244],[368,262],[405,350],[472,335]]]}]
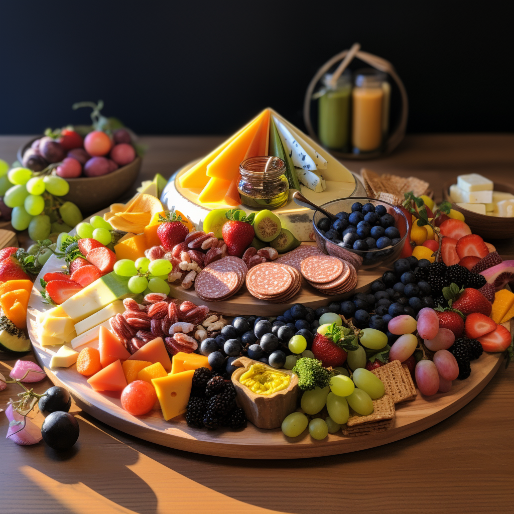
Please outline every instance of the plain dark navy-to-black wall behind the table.
[{"label": "plain dark navy-to-black wall behind the table", "polygon": [[98,99],[139,134],[228,134],[265,106],[303,127],[311,77],[356,41],[396,67],[408,132],[512,131],[509,4],[2,2],[0,134]]}]

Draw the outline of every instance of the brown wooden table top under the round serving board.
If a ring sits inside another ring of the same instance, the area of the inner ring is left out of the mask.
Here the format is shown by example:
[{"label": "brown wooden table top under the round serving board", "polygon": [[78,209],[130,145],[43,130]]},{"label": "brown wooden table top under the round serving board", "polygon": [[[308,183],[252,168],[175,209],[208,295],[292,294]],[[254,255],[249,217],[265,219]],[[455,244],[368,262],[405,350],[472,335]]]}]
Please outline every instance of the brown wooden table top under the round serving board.
[{"label": "brown wooden table top under the round serving board", "polygon": [[[13,161],[26,139],[0,137],[0,157]],[[170,176],[222,139],[142,137],[148,153],[141,180],[157,172]],[[389,157],[344,163],[357,172],[365,166],[418,176],[431,183],[440,200],[442,183],[461,173],[514,183],[514,136],[408,136]],[[512,240],[494,244],[504,258],[514,259]],[[15,360],[2,354],[0,372],[7,375]],[[6,440],[2,414],[0,512],[513,512],[513,377],[514,364],[502,365],[466,407],[424,432],[375,449],[303,461],[235,460],[172,450],[113,430],[75,406],[79,441],[58,454],[44,443],[20,447]],[[43,392],[50,385],[45,379],[34,389]],[[0,392],[0,408],[17,392],[14,384]]]}]

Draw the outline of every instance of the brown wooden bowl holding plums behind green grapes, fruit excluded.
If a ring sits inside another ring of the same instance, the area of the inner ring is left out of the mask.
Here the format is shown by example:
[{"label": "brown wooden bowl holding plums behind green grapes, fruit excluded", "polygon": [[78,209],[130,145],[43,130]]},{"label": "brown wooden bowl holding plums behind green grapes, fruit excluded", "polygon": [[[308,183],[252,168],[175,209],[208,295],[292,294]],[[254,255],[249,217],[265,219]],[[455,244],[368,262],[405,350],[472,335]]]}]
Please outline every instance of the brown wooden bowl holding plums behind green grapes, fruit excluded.
[{"label": "brown wooden bowl holding plums behind green grapes, fruit excluded", "polygon": [[[33,141],[39,139],[35,137],[20,147],[17,158],[22,162],[23,154]],[[141,157],[136,158],[126,166],[99,177],[78,177],[67,178],[69,192],[63,196],[63,200],[73,202],[85,216],[97,212],[105,206],[111,205],[118,198],[132,187],[141,168]]]}]

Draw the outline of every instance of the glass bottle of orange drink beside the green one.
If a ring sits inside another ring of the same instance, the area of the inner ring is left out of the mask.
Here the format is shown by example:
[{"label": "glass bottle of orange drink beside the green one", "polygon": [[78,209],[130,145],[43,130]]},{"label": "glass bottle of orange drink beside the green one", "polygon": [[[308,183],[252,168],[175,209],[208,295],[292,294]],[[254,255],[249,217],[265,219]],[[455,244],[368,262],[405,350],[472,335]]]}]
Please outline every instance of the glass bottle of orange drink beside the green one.
[{"label": "glass bottle of orange drink beside the green one", "polygon": [[352,144],[358,152],[372,152],[382,145],[384,89],[386,76],[375,70],[361,70],[352,91]]}]

